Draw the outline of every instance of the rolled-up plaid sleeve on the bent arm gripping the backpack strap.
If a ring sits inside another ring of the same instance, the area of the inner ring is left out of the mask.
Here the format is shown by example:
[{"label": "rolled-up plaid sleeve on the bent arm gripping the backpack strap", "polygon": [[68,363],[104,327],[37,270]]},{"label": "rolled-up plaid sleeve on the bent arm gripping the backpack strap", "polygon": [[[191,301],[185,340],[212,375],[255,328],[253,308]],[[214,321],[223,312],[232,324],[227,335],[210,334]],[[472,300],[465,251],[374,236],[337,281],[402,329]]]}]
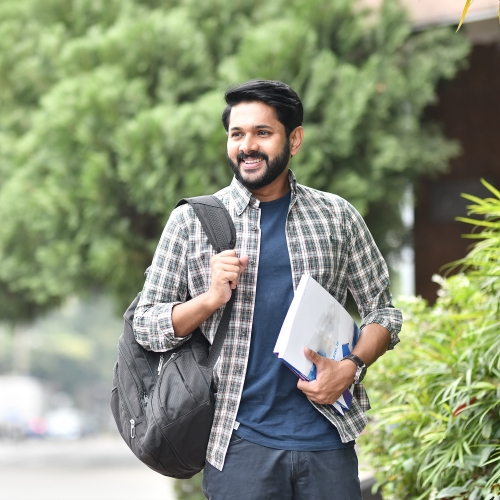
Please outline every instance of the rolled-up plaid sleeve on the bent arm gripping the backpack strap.
[{"label": "rolled-up plaid sleeve on the bent arm gripping the backpack strap", "polygon": [[173,349],[189,338],[175,337],[172,325],[172,308],[185,302],[187,297],[186,254],[189,233],[185,214],[185,207],[172,212],[135,310],[135,338],[139,344],[152,351]]}]

